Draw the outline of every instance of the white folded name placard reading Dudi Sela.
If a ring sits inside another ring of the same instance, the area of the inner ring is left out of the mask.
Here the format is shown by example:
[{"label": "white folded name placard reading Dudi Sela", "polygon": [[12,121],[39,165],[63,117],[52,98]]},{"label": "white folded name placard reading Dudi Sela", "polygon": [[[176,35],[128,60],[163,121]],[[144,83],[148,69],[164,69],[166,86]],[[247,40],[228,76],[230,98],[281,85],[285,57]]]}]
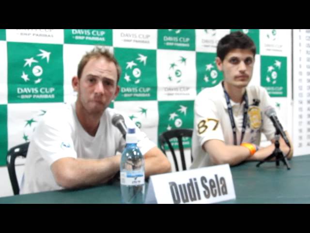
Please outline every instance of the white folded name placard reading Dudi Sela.
[{"label": "white folded name placard reading Dudi Sela", "polygon": [[228,164],[150,177],[145,203],[216,203],[235,199]]}]

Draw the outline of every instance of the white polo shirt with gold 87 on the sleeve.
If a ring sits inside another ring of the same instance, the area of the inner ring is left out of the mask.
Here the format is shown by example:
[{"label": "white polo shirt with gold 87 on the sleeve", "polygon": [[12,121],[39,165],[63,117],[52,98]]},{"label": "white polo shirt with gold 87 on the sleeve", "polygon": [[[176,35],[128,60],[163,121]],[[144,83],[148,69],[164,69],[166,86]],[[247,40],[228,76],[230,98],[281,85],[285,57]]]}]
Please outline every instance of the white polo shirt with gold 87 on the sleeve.
[{"label": "white polo shirt with gold 87 on the sleeve", "polygon": [[[276,130],[264,111],[268,106],[274,106],[265,88],[248,86],[248,124],[242,142],[260,145],[261,133],[268,140],[274,138]],[[260,100],[258,106],[253,105],[253,99]],[[245,102],[235,103],[232,100],[233,117],[236,124],[237,145],[240,145]],[[192,136],[193,163],[190,168],[213,166],[209,154],[202,149],[204,142],[211,139],[224,141],[226,145],[233,145],[233,129],[228,114],[227,103],[222,87],[218,83],[211,88],[205,88],[198,94],[194,106],[194,131]],[[286,127],[283,126],[284,130]]]}]

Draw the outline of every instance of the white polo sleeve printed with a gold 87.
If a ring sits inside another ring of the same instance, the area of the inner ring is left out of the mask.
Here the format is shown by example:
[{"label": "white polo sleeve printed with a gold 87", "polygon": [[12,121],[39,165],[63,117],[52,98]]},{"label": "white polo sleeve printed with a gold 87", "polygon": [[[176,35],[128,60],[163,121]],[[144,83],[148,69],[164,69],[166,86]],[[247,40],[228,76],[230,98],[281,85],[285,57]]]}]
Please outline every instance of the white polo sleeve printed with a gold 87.
[{"label": "white polo sleeve printed with a gold 87", "polygon": [[224,141],[224,135],[214,101],[210,99],[197,98],[194,106],[194,127],[202,146],[210,139]]}]

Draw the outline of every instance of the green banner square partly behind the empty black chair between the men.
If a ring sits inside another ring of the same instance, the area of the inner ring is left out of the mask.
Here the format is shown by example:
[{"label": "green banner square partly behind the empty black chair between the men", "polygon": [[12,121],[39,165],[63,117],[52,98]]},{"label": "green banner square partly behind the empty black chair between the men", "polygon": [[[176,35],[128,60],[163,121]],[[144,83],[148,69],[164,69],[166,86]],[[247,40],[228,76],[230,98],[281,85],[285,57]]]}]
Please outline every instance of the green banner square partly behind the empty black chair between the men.
[{"label": "green banner square partly behind the empty black chair between the men", "polygon": [[[194,101],[158,101],[159,125],[158,135],[172,129],[193,128],[194,121]],[[178,149],[176,138],[172,138],[171,145]],[[191,139],[183,139],[184,148],[191,147]],[[168,146],[166,145],[166,150]]]}]

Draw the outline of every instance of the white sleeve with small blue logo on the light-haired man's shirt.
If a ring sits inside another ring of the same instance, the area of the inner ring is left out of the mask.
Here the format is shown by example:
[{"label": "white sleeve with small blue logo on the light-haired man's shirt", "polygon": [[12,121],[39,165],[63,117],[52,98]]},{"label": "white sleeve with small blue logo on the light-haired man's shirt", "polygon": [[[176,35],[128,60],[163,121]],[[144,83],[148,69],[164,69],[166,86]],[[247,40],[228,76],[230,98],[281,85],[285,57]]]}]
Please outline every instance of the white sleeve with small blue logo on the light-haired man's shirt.
[{"label": "white sleeve with small blue logo on the light-haired man's shirt", "polygon": [[33,142],[38,152],[49,166],[64,157],[77,158],[70,125],[63,119],[57,120],[56,118],[51,116],[43,118],[33,135]]}]

